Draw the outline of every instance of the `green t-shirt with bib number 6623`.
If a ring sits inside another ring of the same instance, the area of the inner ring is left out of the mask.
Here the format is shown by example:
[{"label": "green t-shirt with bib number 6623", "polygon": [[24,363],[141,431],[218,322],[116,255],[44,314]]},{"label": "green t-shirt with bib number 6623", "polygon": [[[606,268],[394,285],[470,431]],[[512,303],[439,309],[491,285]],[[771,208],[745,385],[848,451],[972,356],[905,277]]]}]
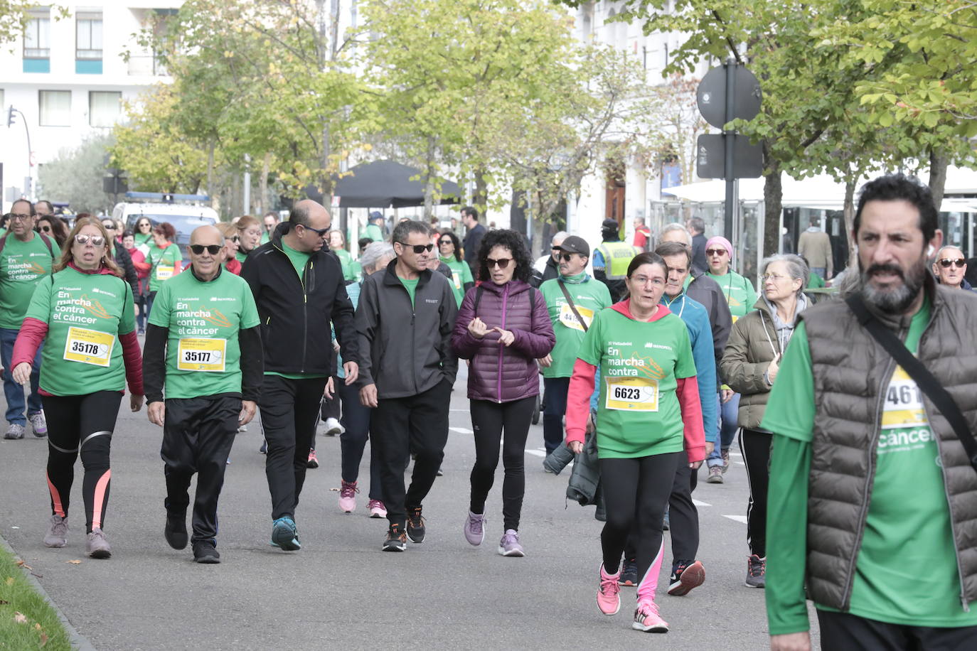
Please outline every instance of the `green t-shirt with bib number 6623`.
[{"label": "green t-shirt with bib number 6623", "polygon": [[689,329],[682,319],[669,313],[655,321],[635,321],[613,308],[601,310],[583,336],[578,357],[600,366],[601,459],[682,451],[676,378],[696,375]]}]

